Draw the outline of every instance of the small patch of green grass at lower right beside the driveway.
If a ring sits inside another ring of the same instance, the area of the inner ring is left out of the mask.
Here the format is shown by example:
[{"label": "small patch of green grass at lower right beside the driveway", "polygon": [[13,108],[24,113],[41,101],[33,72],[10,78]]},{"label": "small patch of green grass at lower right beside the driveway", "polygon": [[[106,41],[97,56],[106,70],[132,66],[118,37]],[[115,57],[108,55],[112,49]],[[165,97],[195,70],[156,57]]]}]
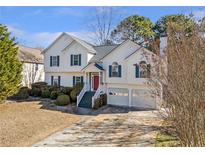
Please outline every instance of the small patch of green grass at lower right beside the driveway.
[{"label": "small patch of green grass at lower right beside the driveway", "polygon": [[177,146],[179,146],[179,140],[177,139],[176,136],[162,131],[157,134],[155,147],[177,147]]}]

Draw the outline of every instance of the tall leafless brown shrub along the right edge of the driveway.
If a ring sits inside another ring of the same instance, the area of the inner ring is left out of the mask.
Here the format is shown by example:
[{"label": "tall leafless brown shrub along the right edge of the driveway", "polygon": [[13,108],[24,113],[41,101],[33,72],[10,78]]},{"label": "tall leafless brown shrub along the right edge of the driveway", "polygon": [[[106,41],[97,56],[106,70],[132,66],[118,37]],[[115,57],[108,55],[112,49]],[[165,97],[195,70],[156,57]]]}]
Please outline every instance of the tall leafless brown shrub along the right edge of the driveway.
[{"label": "tall leafless brown shrub along the right edge of the driveway", "polygon": [[205,146],[205,40],[197,25],[187,31],[179,21],[168,24],[168,46],[157,80],[164,85],[166,115],[182,146]]}]

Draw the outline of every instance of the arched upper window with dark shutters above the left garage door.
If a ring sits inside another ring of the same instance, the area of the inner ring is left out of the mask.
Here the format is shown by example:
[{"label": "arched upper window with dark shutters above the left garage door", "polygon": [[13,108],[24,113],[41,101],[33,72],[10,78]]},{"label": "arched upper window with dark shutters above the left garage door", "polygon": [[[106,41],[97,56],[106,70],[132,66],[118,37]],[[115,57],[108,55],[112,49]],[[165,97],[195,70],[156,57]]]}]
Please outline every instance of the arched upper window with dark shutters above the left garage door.
[{"label": "arched upper window with dark shutters above the left garage door", "polygon": [[121,77],[121,65],[117,62],[109,66],[109,77]]}]

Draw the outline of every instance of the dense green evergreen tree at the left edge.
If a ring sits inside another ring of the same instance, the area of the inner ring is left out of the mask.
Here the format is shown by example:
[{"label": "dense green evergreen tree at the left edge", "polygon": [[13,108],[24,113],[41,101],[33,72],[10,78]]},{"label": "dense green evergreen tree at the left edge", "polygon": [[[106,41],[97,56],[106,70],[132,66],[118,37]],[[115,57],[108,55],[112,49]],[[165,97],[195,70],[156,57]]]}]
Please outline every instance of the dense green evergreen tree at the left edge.
[{"label": "dense green evergreen tree at the left edge", "polygon": [[16,93],[22,81],[22,63],[18,47],[6,26],[0,24],[0,102]]}]

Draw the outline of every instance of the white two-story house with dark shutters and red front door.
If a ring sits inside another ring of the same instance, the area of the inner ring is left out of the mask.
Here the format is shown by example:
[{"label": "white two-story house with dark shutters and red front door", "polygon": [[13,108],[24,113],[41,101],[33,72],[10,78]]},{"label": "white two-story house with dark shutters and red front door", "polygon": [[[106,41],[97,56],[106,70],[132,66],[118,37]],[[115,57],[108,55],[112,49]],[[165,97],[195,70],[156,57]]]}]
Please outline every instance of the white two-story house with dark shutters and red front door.
[{"label": "white two-story house with dark shutters and red front door", "polygon": [[111,105],[158,108],[160,97],[148,84],[156,55],[130,40],[94,46],[62,33],[43,53],[49,85],[84,83],[77,98],[79,107],[92,107],[106,93]]}]

